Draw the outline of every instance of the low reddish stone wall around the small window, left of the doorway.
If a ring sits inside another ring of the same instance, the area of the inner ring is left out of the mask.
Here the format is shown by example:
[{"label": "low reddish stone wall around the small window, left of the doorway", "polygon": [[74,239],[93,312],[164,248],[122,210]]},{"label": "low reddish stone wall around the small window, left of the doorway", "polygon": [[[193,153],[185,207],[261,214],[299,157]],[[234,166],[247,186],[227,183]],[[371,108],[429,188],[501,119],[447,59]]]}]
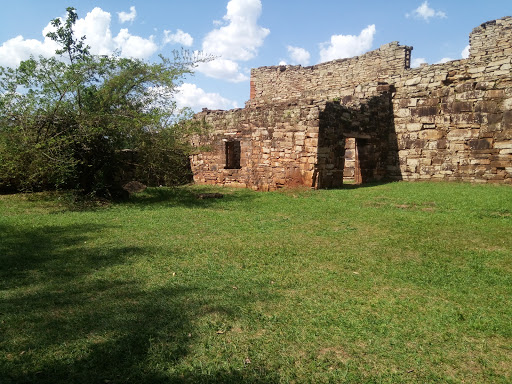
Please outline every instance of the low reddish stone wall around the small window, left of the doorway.
[{"label": "low reddish stone wall around the small window, left of the doorway", "polygon": [[[210,130],[194,138],[208,149],[192,156],[198,183],[273,190],[311,185],[317,158],[319,106],[280,104],[266,109],[205,110]],[[227,142],[240,145],[240,167],[227,168]]]}]

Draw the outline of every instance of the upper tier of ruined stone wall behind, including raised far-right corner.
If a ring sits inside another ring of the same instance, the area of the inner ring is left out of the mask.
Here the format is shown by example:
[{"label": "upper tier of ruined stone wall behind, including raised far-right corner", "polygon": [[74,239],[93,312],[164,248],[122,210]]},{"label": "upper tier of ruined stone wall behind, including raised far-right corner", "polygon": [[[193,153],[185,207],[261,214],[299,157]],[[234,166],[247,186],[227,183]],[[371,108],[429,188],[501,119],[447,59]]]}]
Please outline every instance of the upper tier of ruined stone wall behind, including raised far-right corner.
[{"label": "upper tier of ruined stone wall behind, including raised far-right corner", "polygon": [[[371,82],[394,83],[400,76],[414,75],[410,69],[412,47],[392,42],[361,56],[339,59],[309,67],[281,65],[251,70],[248,107],[297,99],[327,100],[342,95],[343,89]],[[457,63],[480,63],[512,56],[512,17],[486,22],[470,34],[470,57]],[[453,65],[456,62],[452,63]],[[427,66],[434,70],[435,65]],[[422,71],[426,68],[422,68]]]}]

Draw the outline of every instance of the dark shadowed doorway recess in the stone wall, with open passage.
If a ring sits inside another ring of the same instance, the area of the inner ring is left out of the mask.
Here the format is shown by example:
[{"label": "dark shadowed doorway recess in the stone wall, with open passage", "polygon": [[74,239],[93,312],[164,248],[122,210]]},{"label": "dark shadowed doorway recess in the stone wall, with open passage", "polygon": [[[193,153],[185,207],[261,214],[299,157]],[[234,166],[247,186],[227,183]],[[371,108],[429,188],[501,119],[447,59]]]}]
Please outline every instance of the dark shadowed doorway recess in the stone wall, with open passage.
[{"label": "dark shadowed doorway recess in the stone wall, with open passage", "polygon": [[401,179],[393,88],[384,88],[366,99],[326,103],[319,115],[315,188]]}]

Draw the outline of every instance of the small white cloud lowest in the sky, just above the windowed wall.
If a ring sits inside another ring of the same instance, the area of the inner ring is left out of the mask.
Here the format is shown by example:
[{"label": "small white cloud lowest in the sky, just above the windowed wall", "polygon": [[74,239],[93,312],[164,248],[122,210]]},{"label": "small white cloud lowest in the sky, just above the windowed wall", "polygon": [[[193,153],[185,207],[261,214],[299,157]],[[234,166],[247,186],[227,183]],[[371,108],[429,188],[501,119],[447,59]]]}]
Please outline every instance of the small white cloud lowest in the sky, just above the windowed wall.
[{"label": "small white cloud lowest in the sky, just above the windowed wall", "polygon": [[175,100],[178,108],[190,107],[194,111],[199,111],[202,108],[238,108],[235,101],[226,99],[218,93],[207,93],[195,84],[184,83],[177,88],[177,91]]}]

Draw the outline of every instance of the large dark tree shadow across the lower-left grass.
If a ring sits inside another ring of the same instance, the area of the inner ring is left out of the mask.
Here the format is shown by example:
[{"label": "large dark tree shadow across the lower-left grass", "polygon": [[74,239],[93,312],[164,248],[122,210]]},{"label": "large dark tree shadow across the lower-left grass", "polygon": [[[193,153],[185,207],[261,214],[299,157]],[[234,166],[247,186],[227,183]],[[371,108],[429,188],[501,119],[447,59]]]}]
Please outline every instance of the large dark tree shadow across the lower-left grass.
[{"label": "large dark tree shadow across the lower-left grass", "polygon": [[253,366],[187,370],[191,362],[181,362],[197,342],[194,320],[205,306],[236,314],[208,298],[205,287],[171,281],[148,288],[136,273],[108,272],[153,250],[84,247],[105,228],[0,227],[2,384],[278,381]]}]

